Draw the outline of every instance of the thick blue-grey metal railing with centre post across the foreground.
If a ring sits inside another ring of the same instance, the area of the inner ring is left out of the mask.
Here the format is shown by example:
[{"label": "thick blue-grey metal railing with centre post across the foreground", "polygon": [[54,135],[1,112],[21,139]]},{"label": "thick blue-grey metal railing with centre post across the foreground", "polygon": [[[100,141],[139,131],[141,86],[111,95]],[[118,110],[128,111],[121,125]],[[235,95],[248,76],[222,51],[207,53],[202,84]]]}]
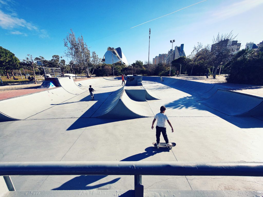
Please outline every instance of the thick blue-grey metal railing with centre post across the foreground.
[{"label": "thick blue-grey metal railing with centre post across the foreground", "polygon": [[134,175],[135,196],[143,196],[142,175],[263,177],[263,162],[2,162],[9,175]]}]

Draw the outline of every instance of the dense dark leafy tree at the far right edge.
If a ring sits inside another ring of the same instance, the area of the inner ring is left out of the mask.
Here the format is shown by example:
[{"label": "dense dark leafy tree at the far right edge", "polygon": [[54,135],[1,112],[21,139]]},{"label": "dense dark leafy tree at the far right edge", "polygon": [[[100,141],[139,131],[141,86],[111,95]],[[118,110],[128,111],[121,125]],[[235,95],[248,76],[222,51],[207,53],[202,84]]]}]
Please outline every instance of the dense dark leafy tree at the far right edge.
[{"label": "dense dark leafy tree at the far right edge", "polygon": [[230,83],[263,85],[263,48],[241,50],[226,64]]}]

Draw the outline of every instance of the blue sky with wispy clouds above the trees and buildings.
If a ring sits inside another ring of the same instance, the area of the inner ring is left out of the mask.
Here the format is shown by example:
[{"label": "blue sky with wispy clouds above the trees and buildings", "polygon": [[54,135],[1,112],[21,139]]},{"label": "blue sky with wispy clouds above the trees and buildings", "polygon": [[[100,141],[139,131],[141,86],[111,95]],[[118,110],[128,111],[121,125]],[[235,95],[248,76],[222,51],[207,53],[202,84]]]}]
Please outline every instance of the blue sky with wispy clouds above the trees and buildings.
[{"label": "blue sky with wispy clouds above the trees and buildings", "polygon": [[233,30],[241,48],[262,42],[263,0],[207,0],[130,29],[199,1],[0,0],[0,46],[19,59],[32,54],[49,60],[64,55],[63,39],[73,29],[100,58],[108,46],[121,47],[131,64],[148,61],[149,28],[150,61],[171,49],[171,39],[174,46],[184,44],[186,55],[197,42],[211,44],[218,32]]}]

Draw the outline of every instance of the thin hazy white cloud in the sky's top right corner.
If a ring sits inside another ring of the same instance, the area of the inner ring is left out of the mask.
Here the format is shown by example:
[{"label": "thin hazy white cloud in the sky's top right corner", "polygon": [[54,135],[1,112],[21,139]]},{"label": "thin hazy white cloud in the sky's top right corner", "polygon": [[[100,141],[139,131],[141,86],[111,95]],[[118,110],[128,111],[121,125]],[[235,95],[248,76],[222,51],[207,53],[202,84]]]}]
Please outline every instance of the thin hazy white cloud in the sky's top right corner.
[{"label": "thin hazy white cloud in the sky's top right corner", "polygon": [[226,5],[219,10],[214,11],[212,16],[215,18],[227,19],[256,8],[260,4],[263,4],[262,0],[243,0],[232,3],[231,5]]}]

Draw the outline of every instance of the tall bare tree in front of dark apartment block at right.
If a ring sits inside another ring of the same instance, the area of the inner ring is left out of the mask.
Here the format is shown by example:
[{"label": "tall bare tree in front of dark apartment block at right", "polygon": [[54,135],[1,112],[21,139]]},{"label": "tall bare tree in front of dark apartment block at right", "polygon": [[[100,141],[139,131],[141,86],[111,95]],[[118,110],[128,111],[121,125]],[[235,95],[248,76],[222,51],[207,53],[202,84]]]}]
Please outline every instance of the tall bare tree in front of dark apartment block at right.
[{"label": "tall bare tree in front of dark apartment block at right", "polygon": [[227,34],[219,34],[213,38],[213,45],[211,47],[210,58],[215,66],[214,76],[216,77],[216,71],[220,65],[226,64],[234,55],[233,48],[235,46],[231,45],[232,41],[237,37],[233,35],[232,31]]}]

